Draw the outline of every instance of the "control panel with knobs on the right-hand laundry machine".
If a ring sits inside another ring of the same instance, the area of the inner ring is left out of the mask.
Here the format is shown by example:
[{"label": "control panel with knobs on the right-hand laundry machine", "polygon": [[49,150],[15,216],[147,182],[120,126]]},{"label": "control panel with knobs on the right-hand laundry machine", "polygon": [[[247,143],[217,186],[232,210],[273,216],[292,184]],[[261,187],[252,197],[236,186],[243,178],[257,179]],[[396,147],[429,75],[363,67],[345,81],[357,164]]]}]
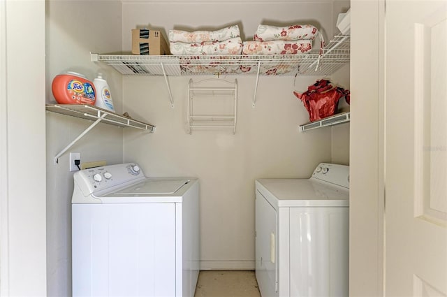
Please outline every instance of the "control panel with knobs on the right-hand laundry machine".
[{"label": "control panel with knobs on the right-hand laundry machine", "polygon": [[349,166],[320,163],[316,166],[312,178],[337,184],[349,189]]}]

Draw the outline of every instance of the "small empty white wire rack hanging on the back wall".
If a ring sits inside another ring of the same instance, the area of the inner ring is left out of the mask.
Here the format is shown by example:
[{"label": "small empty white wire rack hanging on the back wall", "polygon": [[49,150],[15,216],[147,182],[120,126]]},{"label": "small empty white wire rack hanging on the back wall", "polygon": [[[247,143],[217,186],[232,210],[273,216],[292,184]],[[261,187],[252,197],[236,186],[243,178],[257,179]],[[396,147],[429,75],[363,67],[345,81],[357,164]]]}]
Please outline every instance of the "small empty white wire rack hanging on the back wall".
[{"label": "small empty white wire rack hanging on the back wall", "polygon": [[188,85],[189,133],[193,129],[232,129],[236,132],[237,80],[208,79]]}]

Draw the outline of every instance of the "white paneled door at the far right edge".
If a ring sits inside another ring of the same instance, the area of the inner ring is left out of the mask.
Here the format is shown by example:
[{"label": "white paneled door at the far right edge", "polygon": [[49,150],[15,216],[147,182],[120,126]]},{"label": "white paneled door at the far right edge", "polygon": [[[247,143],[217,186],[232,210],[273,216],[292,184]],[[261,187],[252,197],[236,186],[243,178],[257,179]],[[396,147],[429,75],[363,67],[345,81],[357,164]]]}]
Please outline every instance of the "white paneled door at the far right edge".
[{"label": "white paneled door at the far right edge", "polygon": [[447,296],[447,1],[386,0],[386,296]]}]

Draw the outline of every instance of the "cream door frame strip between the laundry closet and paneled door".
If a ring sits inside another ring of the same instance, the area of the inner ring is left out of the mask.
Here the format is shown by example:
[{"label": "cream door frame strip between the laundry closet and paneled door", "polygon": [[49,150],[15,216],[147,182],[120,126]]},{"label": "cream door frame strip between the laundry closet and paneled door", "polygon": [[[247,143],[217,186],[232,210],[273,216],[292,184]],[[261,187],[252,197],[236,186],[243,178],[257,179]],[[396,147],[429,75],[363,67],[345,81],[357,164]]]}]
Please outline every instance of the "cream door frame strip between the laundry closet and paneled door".
[{"label": "cream door frame strip between the laundry closet and paneled door", "polygon": [[385,0],[351,0],[349,295],[383,296]]}]

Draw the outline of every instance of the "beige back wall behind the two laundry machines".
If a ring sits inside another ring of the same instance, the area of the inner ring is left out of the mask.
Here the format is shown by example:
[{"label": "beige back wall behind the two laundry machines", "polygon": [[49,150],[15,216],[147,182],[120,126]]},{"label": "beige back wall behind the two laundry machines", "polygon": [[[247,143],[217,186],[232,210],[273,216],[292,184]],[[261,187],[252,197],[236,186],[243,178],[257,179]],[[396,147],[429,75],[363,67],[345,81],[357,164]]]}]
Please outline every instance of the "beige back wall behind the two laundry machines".
[{"label": "beige back wall behind the two laundry machines", "polygon": [[[346,2],[345,2],[346,3]],[[349,2],[348,2],[349,3]],[[337,6],[339,7],[339,6]],[[332,36],[332,1],[124,1],[123,49],[131,48],[131,29],[218,29],[239,24],[244,39],[262,22],[312,23]],[[194,81],[203,76],[193,77]],[[256,78],[237,78],[238,115],[235,135],[228,130],[186,133],[186,90],[189,77],[170,77],[175,108],[170,108],[163,77],[124,78],[124,106],[137,119],[156,124],[154,134],[124,133],[124,161],[138,161],[149,176],[186,175],[200,179],[200,233],[203,269],[254,268],[254,180],[308,178],[321,161],[349,164],[349,124],[335,130],[300,133],[309,121],[293,90],[305,91],[321,77],[261,76],[256,107]],[[335,75],[349,88],[349,66]],[[332,140],[336,148],[332,150]]]}]

